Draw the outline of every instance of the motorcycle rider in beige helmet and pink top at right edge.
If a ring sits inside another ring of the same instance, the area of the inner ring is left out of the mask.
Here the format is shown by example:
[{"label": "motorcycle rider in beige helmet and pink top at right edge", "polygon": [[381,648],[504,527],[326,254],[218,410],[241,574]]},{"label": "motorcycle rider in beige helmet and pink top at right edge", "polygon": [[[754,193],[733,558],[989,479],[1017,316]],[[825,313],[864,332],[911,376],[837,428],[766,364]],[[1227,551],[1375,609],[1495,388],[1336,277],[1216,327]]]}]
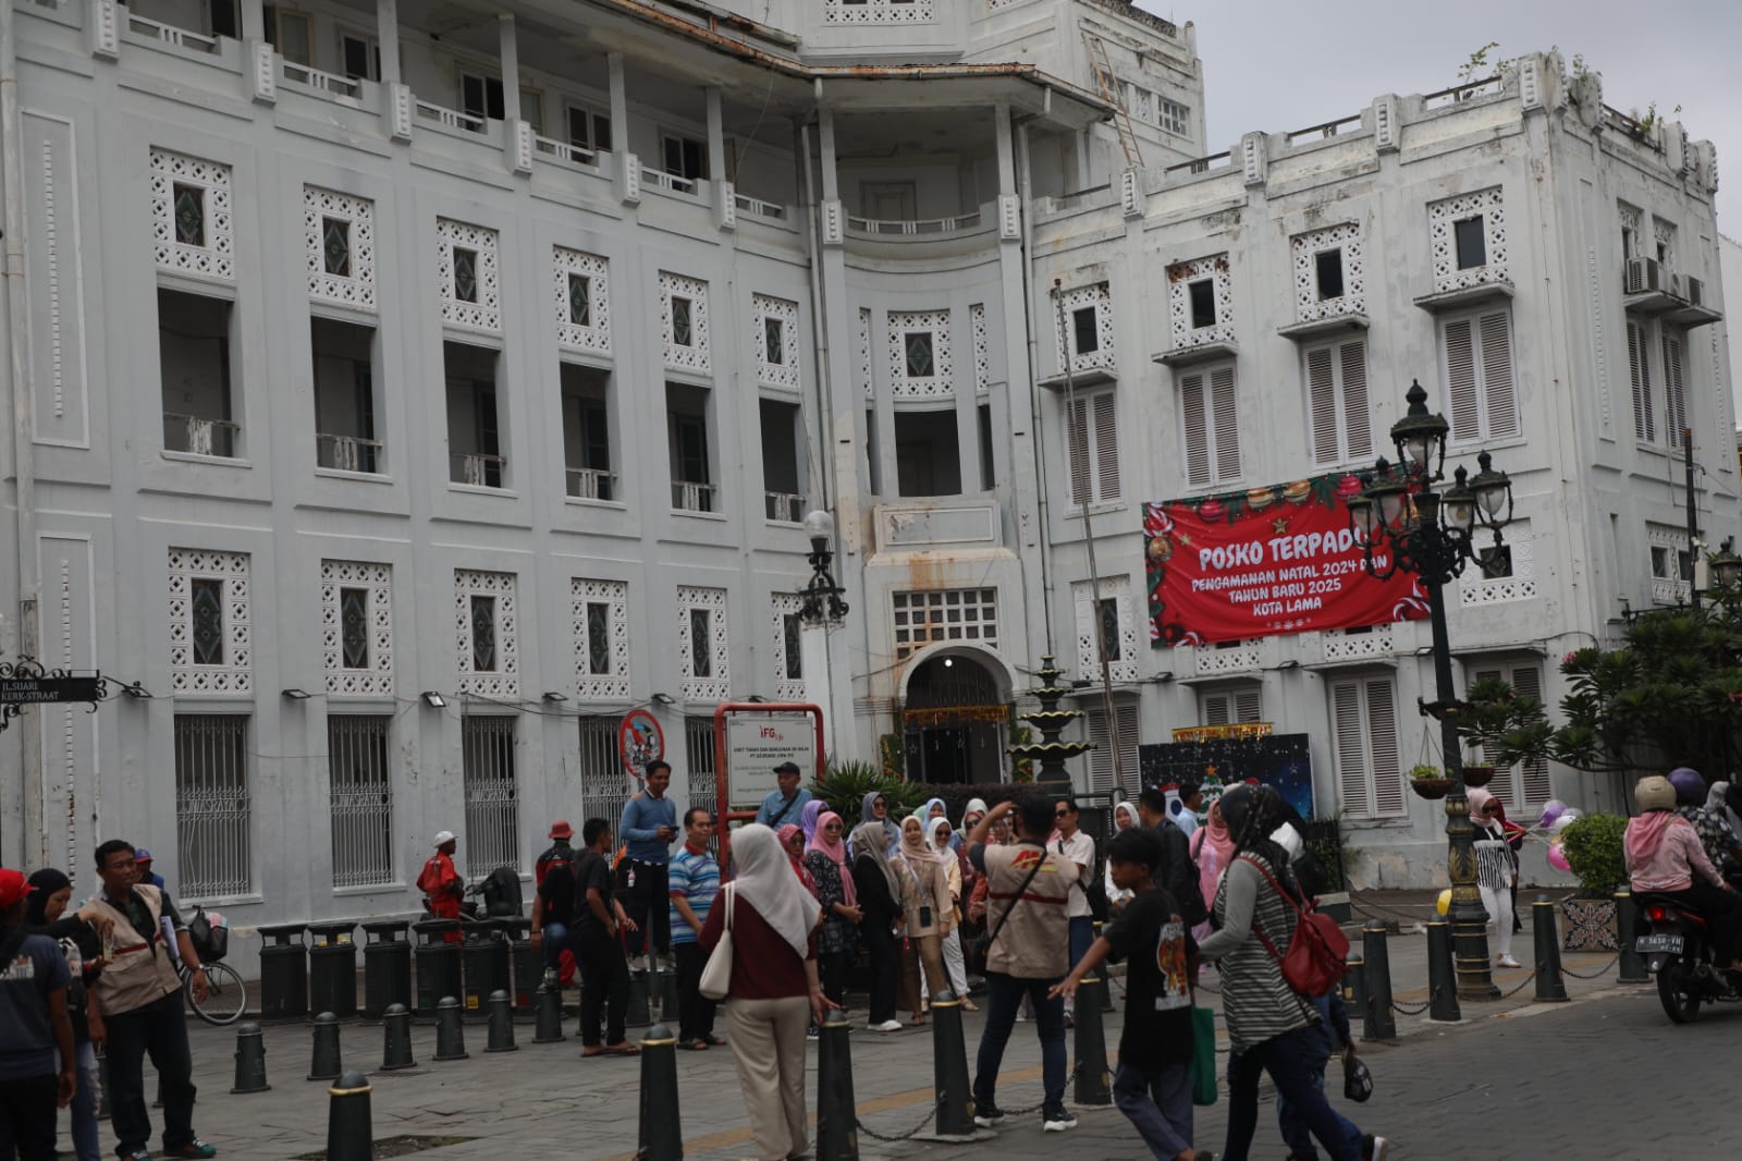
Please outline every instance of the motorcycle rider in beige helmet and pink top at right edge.
[{"label": "motorcycle rider in beige helmet and pink top at right edge", "polygon": [[1712,950],[1728,971],[1742,969],[1742,896],[1725,882],[1700,845],[1693,823],[1676,814],[1676,788],[1667,777],[1641,777],[1634,788],[1639,816],[1627,819],[1622,845],[1634,898],[1657,894],[1705,919]]}]

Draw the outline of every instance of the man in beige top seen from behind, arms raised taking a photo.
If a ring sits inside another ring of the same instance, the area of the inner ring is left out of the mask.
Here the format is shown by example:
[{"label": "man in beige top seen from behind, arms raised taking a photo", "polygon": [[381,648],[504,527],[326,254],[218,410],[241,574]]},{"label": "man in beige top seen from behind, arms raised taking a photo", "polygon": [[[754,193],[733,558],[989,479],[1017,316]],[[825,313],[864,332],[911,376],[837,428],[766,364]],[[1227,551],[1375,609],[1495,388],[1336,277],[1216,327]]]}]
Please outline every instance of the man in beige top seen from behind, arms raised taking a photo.
[{"label": "man in beige top seen from behind, arms raised taking a photo", "polygon": [[974,1123],[991,1128],[1003,1119],[998,1109],[998,1069],[1016,1027],[1016,1011],[1026,995],[1035,1006],[1040,1035],[1042,1107],[1040,1124],[1049,1133],[1077,1126],[1064,1109],[1064,1001],[1049,995],[1070,969],[1068,936],[1070,882],[1077,866],[1047,849],[1052,832],[1052,800],[1026,798],[1017,812],[1016,844],[993,847],[986,835],[1016,809],[1000,802],[967,837],[969,858],[986,877],[986,926],[991,950],[986,955],[986,1029],[981,1034],[974,1076]]}]

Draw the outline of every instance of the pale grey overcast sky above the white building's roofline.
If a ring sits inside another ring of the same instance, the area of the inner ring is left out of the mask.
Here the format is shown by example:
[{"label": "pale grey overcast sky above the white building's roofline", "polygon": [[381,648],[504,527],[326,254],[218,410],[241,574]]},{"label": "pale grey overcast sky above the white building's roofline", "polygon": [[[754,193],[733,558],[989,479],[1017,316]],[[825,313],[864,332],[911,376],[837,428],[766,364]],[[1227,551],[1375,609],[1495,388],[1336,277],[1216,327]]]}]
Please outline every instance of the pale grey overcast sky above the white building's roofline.
[{"label": "pale grey overcast sky above the white building's roofline", "polygon": [[[1305,129],[1381,92],[1434,92],[1489,40],[1489,59],[1561,47],[1603,73],[1622,112],[1681,120],[1718,148],[1718,225],[1742,239],[1742,3],[1737,0],[1138,0],[1197,24],[1209,150]],[[1681,113],[1674,113],[1676,106]]]}]

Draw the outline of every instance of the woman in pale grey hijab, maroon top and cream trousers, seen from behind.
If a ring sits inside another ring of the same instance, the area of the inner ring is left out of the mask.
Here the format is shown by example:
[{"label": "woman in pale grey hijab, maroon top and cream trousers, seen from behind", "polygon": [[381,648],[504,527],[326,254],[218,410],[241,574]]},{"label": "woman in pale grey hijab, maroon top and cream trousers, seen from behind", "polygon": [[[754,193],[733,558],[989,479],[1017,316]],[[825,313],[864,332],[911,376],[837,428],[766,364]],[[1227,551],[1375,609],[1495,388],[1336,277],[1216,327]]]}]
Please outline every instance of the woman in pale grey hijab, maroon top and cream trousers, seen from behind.
[{"label": "woman in pale grey hijab, maroon top and cream trousers, seen from behind", "polygon": [[820,905],[793,877],[780,840],[751,823],[732,835],[735,875],[707,912],[699,943],[712,954],[732,922],[726,1004],[732,1056],[758,1161],[808,1152],[805,1027],[833,1008],[817,978]]}]

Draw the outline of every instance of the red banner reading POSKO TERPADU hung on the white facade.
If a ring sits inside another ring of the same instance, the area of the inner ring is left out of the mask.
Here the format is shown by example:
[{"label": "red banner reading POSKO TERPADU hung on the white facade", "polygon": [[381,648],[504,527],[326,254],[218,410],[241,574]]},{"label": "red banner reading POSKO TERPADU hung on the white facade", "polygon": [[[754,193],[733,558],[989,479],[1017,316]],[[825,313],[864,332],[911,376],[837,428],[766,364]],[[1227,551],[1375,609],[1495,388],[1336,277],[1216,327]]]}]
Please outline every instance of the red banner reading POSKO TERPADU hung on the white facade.
[{"label": "red banner reading POSKO TERPADU hung on the white facade", "polygon": [[[1205,645],[1421,621],[1415,574],[1376,580],[1348,525],[1352,474],[1146,504],[1150,643]],[[1383,572],[1387,553],[1374,551]]]}]

